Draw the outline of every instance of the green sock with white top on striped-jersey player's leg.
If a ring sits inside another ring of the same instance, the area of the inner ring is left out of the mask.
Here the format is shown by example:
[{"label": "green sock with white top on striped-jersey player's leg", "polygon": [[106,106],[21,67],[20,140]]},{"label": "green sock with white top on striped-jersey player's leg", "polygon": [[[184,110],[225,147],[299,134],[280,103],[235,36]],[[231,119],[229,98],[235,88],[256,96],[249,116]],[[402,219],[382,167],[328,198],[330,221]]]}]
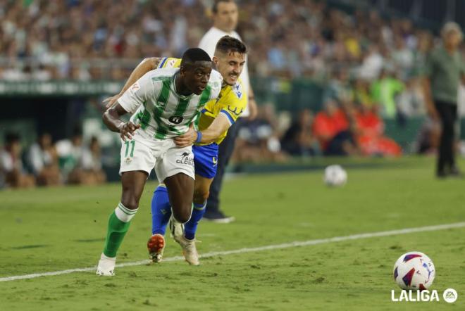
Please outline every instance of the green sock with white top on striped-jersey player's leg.
[{"label": "green sock with white top on striped-jersey player's leg", "polygon": [[109,227],[106,233],[104,255],[115,258],[118,248],[123,243],[124,236],[128,232],[130,220],[134,217],[136,210],[129,210],[121,203],[111,213]]}]

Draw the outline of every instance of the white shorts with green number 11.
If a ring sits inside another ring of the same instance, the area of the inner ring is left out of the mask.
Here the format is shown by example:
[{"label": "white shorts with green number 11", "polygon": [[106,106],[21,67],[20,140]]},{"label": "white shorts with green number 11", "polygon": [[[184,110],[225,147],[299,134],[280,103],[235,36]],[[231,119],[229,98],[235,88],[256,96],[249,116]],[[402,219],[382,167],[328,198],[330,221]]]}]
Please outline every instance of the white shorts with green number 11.
[{"label": "white shorts with green number 11", "polygon": [[120,160],[120,174],[137,170],[150,174],[154,168],[159,182],[178,173],[195,179],[192,146],[178,148],[173,139],[146,139],[135,132],[132,140],[121,139]]}]

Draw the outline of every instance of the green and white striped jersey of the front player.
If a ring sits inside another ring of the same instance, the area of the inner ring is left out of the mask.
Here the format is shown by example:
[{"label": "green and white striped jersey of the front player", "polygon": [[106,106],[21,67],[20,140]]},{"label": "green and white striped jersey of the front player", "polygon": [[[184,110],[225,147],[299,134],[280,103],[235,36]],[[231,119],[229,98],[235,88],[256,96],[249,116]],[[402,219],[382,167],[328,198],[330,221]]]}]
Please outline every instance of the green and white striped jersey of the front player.
[{"label": "green and white striped jersey of the front player", "polygon": [[131,122],[140,124],[150,137],[166,139],[184,134],[205,104],[220,94],[223,77],[216,70],[211,70],[202,94],[178,94],[174,83],[178,72],[179,68],[151,70],[118,99],[120,106],[132,113]]}]

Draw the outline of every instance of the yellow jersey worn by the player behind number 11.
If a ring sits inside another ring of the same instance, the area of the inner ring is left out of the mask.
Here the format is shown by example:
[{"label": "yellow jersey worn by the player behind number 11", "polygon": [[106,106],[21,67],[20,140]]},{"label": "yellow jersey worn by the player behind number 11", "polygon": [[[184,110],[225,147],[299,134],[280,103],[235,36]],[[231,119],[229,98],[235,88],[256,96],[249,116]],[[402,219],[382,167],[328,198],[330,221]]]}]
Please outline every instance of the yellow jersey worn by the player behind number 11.
[{"label": "yellow jersey worn by the player behind number 11", "polygon": [[[163,57],[157,68],[179,68],[181,65],[180,58]],[[247,105],[247,94],[245,94],[244,87],[242,87],[242,81],[237,80],[236,84],[226,84],[221,88],[220,95],[217,99],[212,99],[207,102],[202,113],[200,114],[198,127],[199,131],[206,129],[211,125],[211,122],[215,120],[218,115],[223,113],[225,117],[233,125],[239,118],[242,111],[244,111]],[[220,144],[228,134],[228,130],[225,130],[217,139],[214,141],[216,144]],[[205,144],[199,144],[205,145]]]}]

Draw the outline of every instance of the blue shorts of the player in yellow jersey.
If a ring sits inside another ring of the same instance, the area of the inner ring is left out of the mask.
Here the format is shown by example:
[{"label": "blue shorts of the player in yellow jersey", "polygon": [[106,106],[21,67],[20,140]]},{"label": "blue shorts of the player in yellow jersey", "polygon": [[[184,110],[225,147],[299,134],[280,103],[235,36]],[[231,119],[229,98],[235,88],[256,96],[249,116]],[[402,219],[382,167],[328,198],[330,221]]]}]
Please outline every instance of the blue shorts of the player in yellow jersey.
[{"label": "blue shorts of the player in yellow jersey", "polygon": [[204,146],[192,146],[194,153],[195,174],[205,178],[213,178],[218,166],[218,145],[213,143]]}]

